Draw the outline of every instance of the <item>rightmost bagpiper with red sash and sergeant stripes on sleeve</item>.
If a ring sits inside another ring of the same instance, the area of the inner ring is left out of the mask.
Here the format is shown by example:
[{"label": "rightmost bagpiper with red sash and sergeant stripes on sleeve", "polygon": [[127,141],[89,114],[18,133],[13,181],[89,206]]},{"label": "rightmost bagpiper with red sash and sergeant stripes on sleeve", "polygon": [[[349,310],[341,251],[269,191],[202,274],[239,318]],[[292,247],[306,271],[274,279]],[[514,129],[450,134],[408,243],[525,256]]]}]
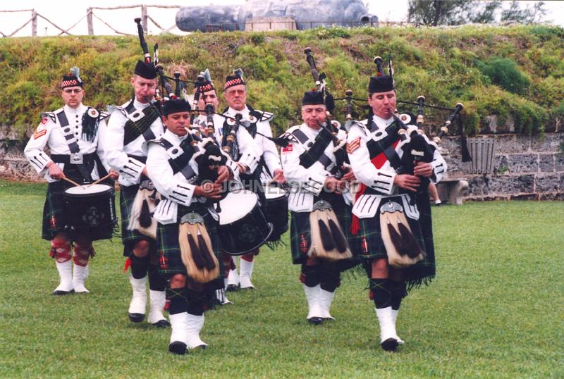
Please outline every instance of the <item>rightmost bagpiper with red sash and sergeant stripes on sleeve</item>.
[{"label": "rightmost bagpiper with red sash and sergeant stripes on sleeve", "polygon": [[415,197],[415,191],[421,178],[441,180],[446,163],[435,151],[431,163],[417,162],[412,173],[403,173],[401,159],[409,140],[400,141],[398,132],[403,130],[393,118],[396,89],[391,73],[379,70],[379,76],[370,78],[368,104],[367,120],[354,123],[348,134],[350,165],[361,182],[351,231],[365,261],[381,347],[393,351],[403,344],[396,333],[403,297],[435,275],[429,197]]}]

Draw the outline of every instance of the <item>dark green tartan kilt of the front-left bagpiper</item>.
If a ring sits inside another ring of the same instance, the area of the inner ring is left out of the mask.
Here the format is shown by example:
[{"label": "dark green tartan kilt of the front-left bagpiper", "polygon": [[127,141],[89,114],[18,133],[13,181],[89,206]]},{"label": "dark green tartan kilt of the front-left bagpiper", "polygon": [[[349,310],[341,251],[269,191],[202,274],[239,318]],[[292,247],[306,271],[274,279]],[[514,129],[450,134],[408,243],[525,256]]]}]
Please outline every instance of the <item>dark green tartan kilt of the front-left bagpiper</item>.
[{"label": "dark green tartan kilt of the front-left bagpiper", "polygon": [[[212,241],[212,249],[219,261],[219,278],[221,278],[221,287],[223,288],[223,278],[225,278],[225,271],[221,263],[221,251],[219,249],[219,234],[217,232],[217,221],[214,220],[209,211],[205,207],[191,207],[178,206],[178,218],[176,223],[161,224],[157,226],[157,251],[159,253],[159,272],[166,278],[174,274],[188,275],[186,266],[182,261],[180,255],[180,243],[178,242],[178,225],[180,225],[180,218],[186,213],[195,212],[204,218],[204,225],[206,226],[209,234],[209,239]],[[215,282],[216,280],[214,280]]]}]

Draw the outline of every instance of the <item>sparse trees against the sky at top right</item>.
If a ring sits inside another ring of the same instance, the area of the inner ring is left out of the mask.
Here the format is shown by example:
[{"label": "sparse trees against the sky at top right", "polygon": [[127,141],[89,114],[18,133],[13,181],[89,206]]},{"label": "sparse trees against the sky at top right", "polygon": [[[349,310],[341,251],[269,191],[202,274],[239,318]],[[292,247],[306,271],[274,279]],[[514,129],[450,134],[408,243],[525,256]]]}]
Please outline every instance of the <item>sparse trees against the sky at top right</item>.
[{"label": "sparse trees against the sky at top right", "polygon": [[[479,0],[409,0],[407,21],[429,26],[494,23],[503,7],[502,1]],[[521,9],[518,1],[501,12],[502,22],[535,23],[546,14],[544,2]]]}]

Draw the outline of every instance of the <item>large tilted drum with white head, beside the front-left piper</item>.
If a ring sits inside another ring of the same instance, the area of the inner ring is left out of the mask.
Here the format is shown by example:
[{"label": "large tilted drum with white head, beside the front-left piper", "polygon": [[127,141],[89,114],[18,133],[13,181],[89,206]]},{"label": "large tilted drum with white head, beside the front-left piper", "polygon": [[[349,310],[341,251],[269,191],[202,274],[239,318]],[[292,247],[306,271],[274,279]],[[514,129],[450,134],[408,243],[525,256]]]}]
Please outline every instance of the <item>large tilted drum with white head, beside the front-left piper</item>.
[{"label": "large tilted drum with white head, beside the front-left piper", "polygon": [[247,254],[270,237],[272,224],[266,221],[255,192],[230,192],[219,201],[219,206],[219,240],[227,254]]}]

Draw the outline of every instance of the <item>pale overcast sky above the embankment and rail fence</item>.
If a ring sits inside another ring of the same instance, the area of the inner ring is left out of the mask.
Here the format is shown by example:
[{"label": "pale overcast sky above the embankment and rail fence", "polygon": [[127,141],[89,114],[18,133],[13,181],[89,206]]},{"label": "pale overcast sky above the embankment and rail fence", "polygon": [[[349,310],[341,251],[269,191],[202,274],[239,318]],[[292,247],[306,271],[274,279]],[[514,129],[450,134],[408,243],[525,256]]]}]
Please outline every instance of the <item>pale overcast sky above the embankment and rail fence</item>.
[{"label": "pale overcast sky above the embankment and rail fence", "polygon": [[[209,4],[217,5],[235,5],[244,4],[244,0],[188,0],[188,1],[174,1],[174,0],[151,0],[147,4],[156,5],[181,5],[181,6],[204,6]],[[405,21],[407,18],[407,0],[369,0],[365,1],[369,4],[369,12],[378,16],[381,21]],[[509,3],[509,1],[507,1]],[[520,1],[523,6],[527,4],[534,4],[534,1]],[[564,1],[546,1],[545,8],[548,9],[548,14],[545,16],[547,21],[556,25],[564,26]],[[16,10],[16,9],[35,9],[39,14],[51,20],[56,25],[64,29],[71,27],[77,23],[80,18],[86,15],[86,9],[89,6],[97,7],[110,7],[110,6],[127,6],[142,4],[140,0],[87,0],[87,1],[47,1],[47,0],[18,0],[18,1],[0,1],[0,11]],[[174,18],[176,9],[159,9],[149,8],[149,15],[161,25],[161,27],[168,28],[174,25]],[[127,10],[95,10],[94,15],[109,23],[118,32],[125,32],[135,34],[135,23],[133,18],[140,16],[140,8],[130,8]],[[31,17],[30,12],[23,13],[3,13],[0,12],[0,32],[4,35],[11,34],[18,27],[22,26]],[[127,20],[127,23],[125,22]],[[73,27],[71,33],[74,35],[87,35],[86,18],[83,18],[78,25]],[[149,20],[149,33],[157,34],[159,29],[154,26]],[[178,28],[172,30],[178,34]],[[37,35],[58,35],[59,30],[52,27],[47,21],[39,18],[37,23]],[[94,34],[96,35],[114,35],[109,27],[104,25],[102,21],[94,17]],[[16,37],[23,37],[31,35],[31,23],[23,27]]]}]

